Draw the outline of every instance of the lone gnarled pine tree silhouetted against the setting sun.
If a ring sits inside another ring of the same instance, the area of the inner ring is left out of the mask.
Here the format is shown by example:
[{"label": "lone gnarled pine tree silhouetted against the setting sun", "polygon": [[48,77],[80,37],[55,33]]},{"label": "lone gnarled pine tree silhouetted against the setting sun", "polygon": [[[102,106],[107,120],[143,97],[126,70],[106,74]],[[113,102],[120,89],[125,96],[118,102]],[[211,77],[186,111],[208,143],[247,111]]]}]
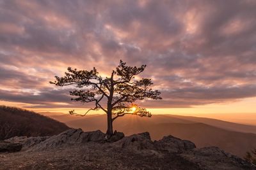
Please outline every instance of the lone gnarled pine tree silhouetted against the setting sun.
[{"label": "lone gnarled pine tree silhouetted against the setting sun", "polygon": [[[151,113],[145,108],[134,104],[137,100],[145,98],[161,99],[158,90],[150,89],[152,81],[148,78],[138,78],[135,76],[145,70],[146,65],[141,67],[126,66],[120,60],[120,64],[112,71],[110,77],[102,78],[97,69],[93,67],[91,71],[72,69],[68,67],[65,76],[55,76],[56,80],[50,83],[57,86],[75,85],[77,90],[71,91],[70,95],[74,101],[82,103],[95,103],[95,107],[90,108],[81,116],[86,115],[91,110],[103,110],[108,116],[108,136],[113,135],[113,121],[124,115],[139,115],[140,117],[151,117]],[[79,89],[79,90],[78,90]],[[106,100],[105,100],[106,99]],[[102,101],[107,101],[106,106]],[[79,115],[74,110],[72,115]]]}]

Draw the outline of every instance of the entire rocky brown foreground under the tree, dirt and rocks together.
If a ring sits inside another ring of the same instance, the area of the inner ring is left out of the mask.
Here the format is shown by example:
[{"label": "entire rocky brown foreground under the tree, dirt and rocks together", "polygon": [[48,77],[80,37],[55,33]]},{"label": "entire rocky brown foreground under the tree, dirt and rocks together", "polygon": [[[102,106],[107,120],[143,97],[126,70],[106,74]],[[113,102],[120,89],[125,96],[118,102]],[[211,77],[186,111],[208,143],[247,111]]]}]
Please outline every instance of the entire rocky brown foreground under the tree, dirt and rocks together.
[{"label": "entire rocky brown foreground under the tree, dirt and rocks together", "polygon": [[116,132],[106,141],[100,131],[71,129],[52,137],[11,138],[0,149],[19,143],[22,150],[1,152],[0,169],[256,169],[219,148],[195,148],[173,136],[154,142],[147,132],[123,137]]}]

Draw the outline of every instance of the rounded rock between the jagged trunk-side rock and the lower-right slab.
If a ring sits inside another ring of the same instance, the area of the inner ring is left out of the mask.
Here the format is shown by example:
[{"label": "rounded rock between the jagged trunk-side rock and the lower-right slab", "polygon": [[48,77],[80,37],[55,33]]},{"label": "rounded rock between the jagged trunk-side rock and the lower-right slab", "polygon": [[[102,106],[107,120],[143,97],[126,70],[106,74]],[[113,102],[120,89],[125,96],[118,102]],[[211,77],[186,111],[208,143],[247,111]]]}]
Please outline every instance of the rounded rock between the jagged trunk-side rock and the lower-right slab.
[{"label": "rounded rock between the jagged trunk-side rock and the lower-right slab", "polygon": [[163,139],[159,141],[154,141],[154,146],[156,146],[157,150],[166,150],[168,152],[175,153],[193,150],[194,148],[196,148],[193,142],[175,138],[172,135],[164,136]]}]

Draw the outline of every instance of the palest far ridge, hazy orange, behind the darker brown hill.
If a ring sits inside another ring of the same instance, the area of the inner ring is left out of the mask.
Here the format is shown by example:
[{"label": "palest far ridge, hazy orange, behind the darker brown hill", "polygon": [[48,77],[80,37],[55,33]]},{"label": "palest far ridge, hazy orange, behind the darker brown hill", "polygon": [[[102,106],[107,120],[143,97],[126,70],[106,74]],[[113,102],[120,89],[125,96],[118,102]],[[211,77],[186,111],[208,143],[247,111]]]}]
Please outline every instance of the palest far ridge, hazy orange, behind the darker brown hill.
[{"label": "palest far ridge, hazy orange, behind the darker brown hill", "polygon": [[[77,127],[77,125],[81,125],[81,127],[86,127],[88,129],[97,130],[97,127],[101,125],[90,125],[90,122],[96,118],[97,121],[102,122],[102,130],[105,131],[106,128],[106,118],[104,115],[94,114],[94,115],[86,115],[85,117],[76,117],[74,115],[64,114],[64,113],[54,113],[54,112],[41,112],[40,114],[45,115],[47,117],[54,118],[55,120],[58,120],[60,122],[67,123],[70,126]],[[89,119],[88,119],[89,118]],[[181,116],[181,115],[153,115],[151,118],[140,118],[140,117],[134,117],[134,118],[128,118],[127,116],[118,118],[115,120],[115,124],[127,124],[128,122],[131,122],[134,119],[138,119],[136,121],[139,121],[138,123],[142,122],[148,122],[148,123],[156,123],[156,124],[162,124],[162,123],[203,123],[207,125],[212,125],[214,127],[220,127],[221,129],[225,129],[228,131],[236,131],[236,132],[245,132],[245,133],[254,133],[256,134],[256,125],[247,125],[247,124],[239,124],[234,122],[227,122],[223,120],[218,120],[214,118],[204,118],[204,117],[191,117],[191,116]],[[85,122],[84,122],[85,121]],[[87,122],[89,121],[89,122]],[[132,122],[131,122],[132,123]],[[101,129],[101,128],[100,128]]]}]

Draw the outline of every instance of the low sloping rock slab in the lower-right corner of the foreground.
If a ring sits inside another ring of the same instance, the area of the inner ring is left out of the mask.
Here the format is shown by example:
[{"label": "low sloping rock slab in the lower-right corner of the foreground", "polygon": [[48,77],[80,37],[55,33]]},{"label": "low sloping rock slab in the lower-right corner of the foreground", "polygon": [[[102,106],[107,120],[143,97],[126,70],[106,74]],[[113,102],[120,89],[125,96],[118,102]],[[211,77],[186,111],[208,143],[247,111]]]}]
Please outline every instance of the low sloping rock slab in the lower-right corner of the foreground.
[{"label": "low sloping rock slab in the lower-right corner of the foreground", "polygon": [[181,157],[197,164],[202,169],[256,169],[252,164],[244,161],[243,159],[232,155],[231,153],[224,152],[218,147],[210,146],[199,148],[180,154]]}]

